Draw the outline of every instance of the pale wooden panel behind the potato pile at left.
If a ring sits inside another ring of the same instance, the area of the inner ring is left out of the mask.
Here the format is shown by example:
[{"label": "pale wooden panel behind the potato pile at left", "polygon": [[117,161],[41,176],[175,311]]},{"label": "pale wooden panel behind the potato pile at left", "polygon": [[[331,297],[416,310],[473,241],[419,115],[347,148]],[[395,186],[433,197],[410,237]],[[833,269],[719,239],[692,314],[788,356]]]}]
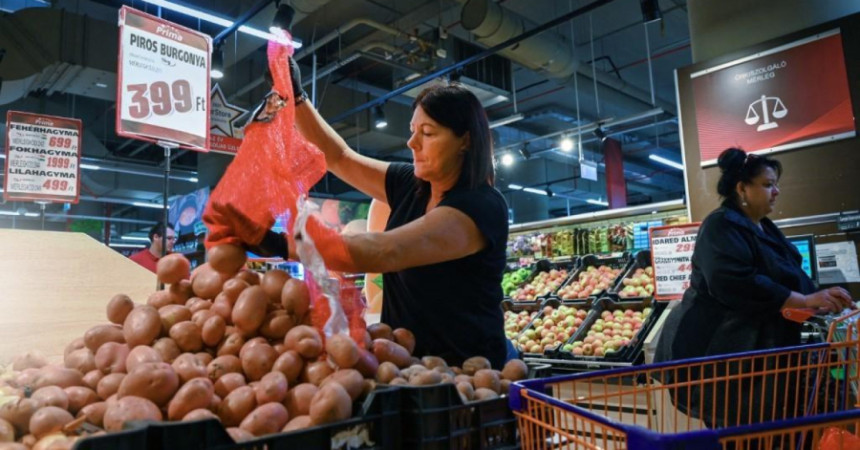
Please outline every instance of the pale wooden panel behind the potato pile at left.
[{"label": "pale wooden panel behind the potato pile at left", "polygon": [[83,233],[0,229],[0,365],[25,351],[55,362],[106,305],[136,303],[156,290],[155,274]]}]

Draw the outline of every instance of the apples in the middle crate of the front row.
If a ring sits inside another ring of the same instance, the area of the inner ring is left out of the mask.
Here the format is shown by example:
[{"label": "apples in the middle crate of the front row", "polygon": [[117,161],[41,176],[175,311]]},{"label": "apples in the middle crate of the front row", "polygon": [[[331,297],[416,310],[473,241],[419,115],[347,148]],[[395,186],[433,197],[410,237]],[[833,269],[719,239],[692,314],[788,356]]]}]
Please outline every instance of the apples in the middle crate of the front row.
[{"label": "apples in the middle crate of the front row", "polygon": [[[558,348],[571,337],[576,335],[578,328],[585,323],[588,311],[591,310],[591,300],[578,302],[577,304],[563,303],[557,299],[549,299],[543,302],[537,317],[526,326],[513,340],[514,347],[523,354],[524,358],[546,358],[555,354]],[[553,317],[552,314],[556,316]],[[573,317],[568,319],[567,317]],[[547,320],[552,320],[552,325],[547,326]],[[564,328],[551,331],[552,327],[558,327],[558,322],[564,323]],[[546,330],[546,331],[545,331]],[[564,337],[557,339],[560,333]],[[542,339],[549,342],[541,344]],[[529,342],[533,341],[533,344]],[[540,352],[532,351],[533,345],[540,345]]]}]

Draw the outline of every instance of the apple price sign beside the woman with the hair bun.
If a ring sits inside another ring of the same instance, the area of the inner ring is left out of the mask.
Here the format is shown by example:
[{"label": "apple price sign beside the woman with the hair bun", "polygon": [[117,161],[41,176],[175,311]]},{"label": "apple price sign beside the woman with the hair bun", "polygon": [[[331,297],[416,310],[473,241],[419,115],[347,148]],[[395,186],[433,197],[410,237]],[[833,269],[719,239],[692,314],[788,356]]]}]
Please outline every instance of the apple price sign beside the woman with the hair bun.
[{"label": "apple price sign beside the woman with the hair bun", "polygon": [[650,231],[654,298],[678,300],[690,287],[693,250],[700,223],[654,227]]}]

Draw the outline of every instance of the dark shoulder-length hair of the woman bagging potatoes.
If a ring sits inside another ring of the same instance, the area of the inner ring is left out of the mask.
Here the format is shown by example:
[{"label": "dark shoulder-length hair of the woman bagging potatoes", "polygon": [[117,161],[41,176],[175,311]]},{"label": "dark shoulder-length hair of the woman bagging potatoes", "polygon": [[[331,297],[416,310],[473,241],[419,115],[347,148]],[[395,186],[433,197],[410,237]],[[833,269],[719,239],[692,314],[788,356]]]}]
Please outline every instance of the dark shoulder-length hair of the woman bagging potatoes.
[{"label": "dark shoulder-length hair of the woman bagging potatoes", "polygon": [[[493,186],[493,138],[487,113],[481,102],[460,83],[430,86],[415,98],[412,109],[421,106],[430,118],[450,128],[454,135],[463,137],[469,133],[470,147],[463,159],[458,186],[475,189],[482,184]],[[429,188],[429,183],[419,180],[419,188]]]}]

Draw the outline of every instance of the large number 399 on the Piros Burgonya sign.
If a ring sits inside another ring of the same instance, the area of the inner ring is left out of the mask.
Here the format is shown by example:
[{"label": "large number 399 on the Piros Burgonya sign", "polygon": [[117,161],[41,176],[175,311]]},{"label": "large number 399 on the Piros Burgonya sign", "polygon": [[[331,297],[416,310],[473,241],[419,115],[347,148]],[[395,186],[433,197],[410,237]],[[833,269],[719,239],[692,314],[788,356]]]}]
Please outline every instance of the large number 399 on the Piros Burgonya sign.
[{"label": "large number 399 on the Piros Burgonya sign", "polygon": [[156,81],[152,84],[129,84],[131,105],[128,114],[134,119],[145,119],[150,114],[166,116],[176,111],[187,113],[193,107],[191,84],[187,80],[176,80],[172,84]]}]

